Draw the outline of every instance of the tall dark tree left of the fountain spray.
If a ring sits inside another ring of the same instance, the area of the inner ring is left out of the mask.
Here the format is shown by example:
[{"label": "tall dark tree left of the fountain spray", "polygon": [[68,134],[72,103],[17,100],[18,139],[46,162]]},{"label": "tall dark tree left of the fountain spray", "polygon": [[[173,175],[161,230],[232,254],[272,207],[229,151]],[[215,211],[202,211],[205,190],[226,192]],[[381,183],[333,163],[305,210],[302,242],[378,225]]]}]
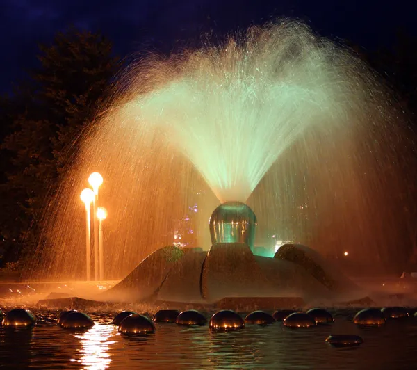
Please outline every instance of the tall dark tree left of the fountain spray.
[{"label": "tall dark tree left of the fountain spray", "polygon": [[0,186],[1,205],[7,209],[2,215],[10,220],[0,230],[4,249],[13,250],[6,252],[9,260],[38,243],[40,230],[33,220],[58,188],[68,159],[79,149],[72,145],[74,138],[94,118],[120,65],[111,42],[99,33],[76,29],[58,33],[49,46],[41,45],[38,58],[40,68],[31,75],[25,98],[13,97],[24,103],[11,112],[13,132],[1,145],[10,156]]}]

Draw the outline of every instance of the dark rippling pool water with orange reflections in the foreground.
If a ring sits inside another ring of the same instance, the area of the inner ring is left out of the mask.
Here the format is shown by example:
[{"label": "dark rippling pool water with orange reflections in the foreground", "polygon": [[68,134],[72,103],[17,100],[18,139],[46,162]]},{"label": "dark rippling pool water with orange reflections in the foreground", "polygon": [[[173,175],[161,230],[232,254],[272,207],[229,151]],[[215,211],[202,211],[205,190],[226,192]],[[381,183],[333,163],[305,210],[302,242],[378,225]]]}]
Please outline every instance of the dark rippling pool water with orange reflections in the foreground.
[{"label": "dark rippling pool water with orange reflections in the foreground", "polygon": [[[416,369],[417,320],[389,321],[361,329],[353,312],[336,314],[333,325],[309,329],[247,325],[235,332],[211,333],[208,326],[186,328],[156,323],[153,335],[127,337],[108,324],[109,312],[90,314],[89,330],[64,330],[56,312],[35,312],[32,329],[0,327],[2,369]],[[330,333],[357,334],[359,348],[333,348]]]}]

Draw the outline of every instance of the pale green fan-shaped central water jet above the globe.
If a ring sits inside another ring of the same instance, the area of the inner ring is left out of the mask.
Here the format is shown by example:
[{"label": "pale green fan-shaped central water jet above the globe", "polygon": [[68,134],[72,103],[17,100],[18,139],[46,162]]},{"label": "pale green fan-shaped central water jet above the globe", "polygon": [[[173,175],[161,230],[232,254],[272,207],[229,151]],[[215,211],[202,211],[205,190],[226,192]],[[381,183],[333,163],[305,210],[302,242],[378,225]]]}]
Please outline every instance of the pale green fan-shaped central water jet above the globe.
[{"label": "pale green fan-shaped central water jet above the globe", "polygon": [[220,202],[245,202],[307,128],[349,124],[354,63],[335,51],[294,22],[252,30],[239,43],[154,61],[156,86],[124,113],[161,128]]}]

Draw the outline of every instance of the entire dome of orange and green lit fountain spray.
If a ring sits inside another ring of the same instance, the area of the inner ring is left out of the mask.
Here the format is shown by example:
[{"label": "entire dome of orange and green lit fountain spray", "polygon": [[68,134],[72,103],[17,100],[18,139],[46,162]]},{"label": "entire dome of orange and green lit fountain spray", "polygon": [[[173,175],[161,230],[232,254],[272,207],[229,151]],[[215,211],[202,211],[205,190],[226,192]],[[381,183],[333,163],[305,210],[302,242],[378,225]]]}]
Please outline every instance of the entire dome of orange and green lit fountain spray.
[{"label": "entire dome of orange and green lit fountain spray", "polygon": [[142,58],[74,142],[80,149],[45,208],[33,275],[84,278],[79,193],[96,171],[109,215],[106,279],[161,246],[208,249],[207,220],[229,201],[256,213],[255,245],[290,240],[329,255],[349,250],[346,262],[358,266],[393,266],[391,246],[412,225],[396,165],[401,122],[356,56],[297,22]]}]

